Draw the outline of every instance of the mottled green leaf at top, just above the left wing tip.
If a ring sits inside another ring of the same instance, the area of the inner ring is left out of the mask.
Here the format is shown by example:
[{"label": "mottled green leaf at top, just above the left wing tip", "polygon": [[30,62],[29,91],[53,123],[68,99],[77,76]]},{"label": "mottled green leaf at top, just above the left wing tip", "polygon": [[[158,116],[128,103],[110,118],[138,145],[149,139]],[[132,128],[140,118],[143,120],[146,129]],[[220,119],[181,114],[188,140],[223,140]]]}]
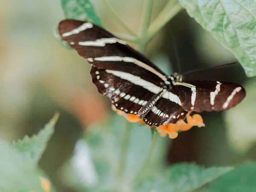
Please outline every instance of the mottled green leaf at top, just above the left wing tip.
[{"label": "mottled green leaf at top, just above the left wing tip", "polygon": [[67,19],[87,20],[102,26],[90,0],[61,0],[61,6]]}]

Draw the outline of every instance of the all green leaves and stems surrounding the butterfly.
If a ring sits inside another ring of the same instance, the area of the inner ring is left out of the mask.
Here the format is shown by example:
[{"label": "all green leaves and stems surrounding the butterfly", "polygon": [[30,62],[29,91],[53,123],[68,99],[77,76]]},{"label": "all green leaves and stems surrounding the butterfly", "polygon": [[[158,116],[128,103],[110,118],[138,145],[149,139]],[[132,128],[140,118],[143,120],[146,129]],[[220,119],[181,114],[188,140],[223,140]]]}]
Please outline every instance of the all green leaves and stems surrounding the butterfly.
[{"label": "all green leaves and stems surrounding the butterfly", "polygon": [[[119,19],[106,0],[102,2],[128,32],[118,36],[136,43],[141,52],[144,52],[152,37],[183,6],[191,17],[233,51],[248,76],[256,75],[256,16],[253,1],[180,0],[181,6],[177,0],[169,0],[157,18],[150,22],[153,0],[145,0],[142,27],[138,34]],[[90,0],[62,0],[61,6],[66,18],[88,20],[103,26]],[[50,185],[45,181],[47,179],[37,167],[37,163],[54,132],[53,127],[57,119],[58,115],[55,115],[37,135],[26,136],[13,145],[0,142],[0,190],[50,190]],[[157,137],[154,131],[131,124],[117,115],[112,116],[108,125],[92,125],[82,143],[79,141],[76,145],[74,157],[70,161],[73,174],[66,174],[65,184],[76,188],[77,191],[89,192],[256,191],[256,163],[209,168],[194,163],[166,166],[165,153],[168,143],[163,139],[157,140]],[[83,164],[85,160],[86,163]],[[87,182],[92,176],[94,180]]]}]

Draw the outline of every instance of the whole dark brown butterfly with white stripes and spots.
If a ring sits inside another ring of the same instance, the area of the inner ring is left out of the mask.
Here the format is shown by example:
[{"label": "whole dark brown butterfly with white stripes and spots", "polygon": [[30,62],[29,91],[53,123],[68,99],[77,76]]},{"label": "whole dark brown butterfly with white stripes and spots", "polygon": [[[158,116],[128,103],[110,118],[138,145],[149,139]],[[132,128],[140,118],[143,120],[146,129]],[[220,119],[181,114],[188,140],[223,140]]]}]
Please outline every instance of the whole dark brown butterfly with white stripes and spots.
[{"label": "whole dark brown butterfly with white stripes and spots", "polygon": [[125,41],[90,22],[62,20],[58,31],[91,64],[99,93],[149,126],[176,123],[189,111],[227,110],[245,97],[244,88],[235,83],[168,76]]}]

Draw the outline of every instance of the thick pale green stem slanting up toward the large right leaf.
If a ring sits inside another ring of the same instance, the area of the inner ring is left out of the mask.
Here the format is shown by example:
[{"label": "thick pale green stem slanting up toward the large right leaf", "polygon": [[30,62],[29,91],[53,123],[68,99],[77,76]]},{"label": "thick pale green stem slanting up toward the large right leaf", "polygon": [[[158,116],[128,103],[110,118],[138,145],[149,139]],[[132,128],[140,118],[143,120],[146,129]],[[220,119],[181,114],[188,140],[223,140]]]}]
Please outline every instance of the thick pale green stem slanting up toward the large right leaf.
[{"label": "thick pale green stem slanting up toward the large right leaf", "polygon": [[[173,5],[175,3],[175,5]],[[161,29],[165,24],[171,20],[183,7],[177,0],[170,0],[165,6],[162,12],[154,20],[154,22],[149,26],[148,29],[148,39],[151,40],[154,35]]]}]

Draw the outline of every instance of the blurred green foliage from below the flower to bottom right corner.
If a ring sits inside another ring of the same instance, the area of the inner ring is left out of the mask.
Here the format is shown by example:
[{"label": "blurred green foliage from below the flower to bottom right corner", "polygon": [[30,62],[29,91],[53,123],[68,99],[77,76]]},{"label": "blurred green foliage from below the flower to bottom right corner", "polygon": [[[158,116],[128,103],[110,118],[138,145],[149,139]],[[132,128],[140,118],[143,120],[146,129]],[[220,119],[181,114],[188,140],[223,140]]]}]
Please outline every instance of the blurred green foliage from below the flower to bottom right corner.
[{"label": "blurred green foliage from below the flower to bottom right corner", "polygon": [[[118,173],[122,160],[122,135],[125,129],[131,129],[131,137],[128,141],[128,151],[125,154],[125,169]],[[253,178],[256,176],[256,163],[244,163],[237,167],[202,167],[194,163],[180,163],[172,166],[164,166],[166,140],[157,140],[150,163],[146,163],[143,171],[138,174],[138,169],[145,163],[148,157],[151,140],[150,131],[137,124],[128,124],[121,116],[114,115],[111,125],[94,124],[88,128],[85,143],[89,147],[80,149],[86,154],[81,162],[90,158],[92,164],[87,163],[84,175],[92,180],[93,184],[81,180],[81,166],[72,165],[72,176],[66,178],[65,183],[78,191],[89,192],[105,191],[136,191],[136,192],[191,192],[191,191],[243,191],[253,192]],[[83,142],[84,142],[83,141]],[[85,144],[84,143],[84,144]],[[81,141],[79,141],[79,145]],[[104,150],[102,150],[104,149]],[[81,152],[80,151],[80,152]],[[76,153],[79,153],[76,151]],[[76,153],[74,156],[76,156]],[[144,160],[143,160],[144,159]],[[71,162],[74,162],[74,158]],[[88,167],[90,164],[90,167]],[[89,170],[93,170],[93,173]],[[70,169],[66,170],[66,174]],[[76,177],[75,185],[71,183],[71,177]]]}]

